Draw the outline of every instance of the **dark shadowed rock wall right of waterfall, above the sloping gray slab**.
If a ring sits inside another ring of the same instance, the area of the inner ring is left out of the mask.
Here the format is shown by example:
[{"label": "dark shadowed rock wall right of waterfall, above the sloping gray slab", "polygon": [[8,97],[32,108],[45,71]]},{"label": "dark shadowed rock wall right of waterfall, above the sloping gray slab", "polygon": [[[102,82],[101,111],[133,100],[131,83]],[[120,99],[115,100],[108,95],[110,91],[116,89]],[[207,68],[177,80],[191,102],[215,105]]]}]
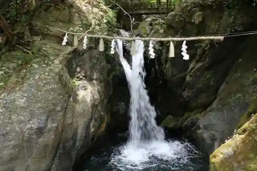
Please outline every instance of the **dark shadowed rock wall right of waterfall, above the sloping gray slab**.
[{"label": "dark shadowed rock wall right of waterfall, above the sloping gray slab", "polygon": [[[231,8],[225,8],[224,4]],[[238,5],[229,1],[183,1],[167,16],[167,34],[197,36],[248,29],[254,17],[253,6],[245,4],[240,10],[233,6]],[[189,61],[182,60],[182,43],[176,42],[176,58],[166,60],[164,71],[169,85],[181,97],[180,102],[190,110],[208,107],[215,100],[238,53],[241,53],[241,49],[234,49],[241,42],[241,39],[232,38],[221,44],[208,40],[187,42]]]}]

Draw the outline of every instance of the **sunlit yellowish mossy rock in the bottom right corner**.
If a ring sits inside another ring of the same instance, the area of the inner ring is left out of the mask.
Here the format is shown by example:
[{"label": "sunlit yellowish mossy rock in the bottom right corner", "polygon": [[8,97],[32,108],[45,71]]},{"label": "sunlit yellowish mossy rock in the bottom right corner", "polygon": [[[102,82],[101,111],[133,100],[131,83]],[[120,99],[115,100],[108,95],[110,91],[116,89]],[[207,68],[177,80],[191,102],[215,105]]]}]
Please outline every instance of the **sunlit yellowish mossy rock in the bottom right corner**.
[{"label": "sunlit yellowish mossy rock in the bottom right corner", "polygon": [[257,115],[242,126],[226,143],[210,156],[211,171],[245,170],[257,168]]}]

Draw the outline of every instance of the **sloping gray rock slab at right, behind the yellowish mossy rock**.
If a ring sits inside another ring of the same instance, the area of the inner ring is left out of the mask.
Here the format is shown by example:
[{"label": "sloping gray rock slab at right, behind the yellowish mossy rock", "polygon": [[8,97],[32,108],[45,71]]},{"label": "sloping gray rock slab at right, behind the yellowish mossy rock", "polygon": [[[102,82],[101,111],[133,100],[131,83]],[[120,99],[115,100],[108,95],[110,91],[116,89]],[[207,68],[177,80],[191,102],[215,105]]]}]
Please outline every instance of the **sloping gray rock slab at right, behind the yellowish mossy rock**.
[{"label": "sloping gray rock slab at right, behind the yellowish mossy rock", "polygon": [[232,135],[249,103],[256,96],[257,60],[252,39],[242,42],[240,59],[235,62],[219,89],[216,100],[193,128],[193,138],[200,149],[209,155]]}]

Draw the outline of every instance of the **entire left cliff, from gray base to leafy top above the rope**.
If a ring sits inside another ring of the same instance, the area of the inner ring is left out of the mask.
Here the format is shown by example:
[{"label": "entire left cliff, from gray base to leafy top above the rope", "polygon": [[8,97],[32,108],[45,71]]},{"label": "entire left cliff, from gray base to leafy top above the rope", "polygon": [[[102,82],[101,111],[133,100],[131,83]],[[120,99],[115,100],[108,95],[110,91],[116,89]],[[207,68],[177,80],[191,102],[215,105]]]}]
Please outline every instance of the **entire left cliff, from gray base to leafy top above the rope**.
[{"label": "entire left cliff, from gray base to leafy top above the rope", "polygon": [[25,29],[25,47],[2,54],[0,170],[71,170],[104,132],[108,54],[90,42],[84,51],[72,46],[71,35],[63,46],[65,33],[49,27],[106,33],[114,30],[110,13],[102,1],[41,4],[32,17],[37,24]]}]

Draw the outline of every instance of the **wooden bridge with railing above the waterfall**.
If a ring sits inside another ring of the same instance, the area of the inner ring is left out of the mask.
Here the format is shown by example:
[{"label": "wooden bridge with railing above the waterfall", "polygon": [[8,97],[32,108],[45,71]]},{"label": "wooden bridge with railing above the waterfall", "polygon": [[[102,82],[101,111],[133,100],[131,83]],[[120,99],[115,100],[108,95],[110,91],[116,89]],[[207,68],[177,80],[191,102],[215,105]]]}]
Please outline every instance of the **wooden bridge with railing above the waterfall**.
[{"label": "wooden bridge with railing above the waterfall", "polygon": [[[120,4],[128,14],[131,15],[150,15],[150,14],[166,14],[169,13],[171,3],[135,3],[135,4]],[[119,7],[118,10],[123,12]]]}]

